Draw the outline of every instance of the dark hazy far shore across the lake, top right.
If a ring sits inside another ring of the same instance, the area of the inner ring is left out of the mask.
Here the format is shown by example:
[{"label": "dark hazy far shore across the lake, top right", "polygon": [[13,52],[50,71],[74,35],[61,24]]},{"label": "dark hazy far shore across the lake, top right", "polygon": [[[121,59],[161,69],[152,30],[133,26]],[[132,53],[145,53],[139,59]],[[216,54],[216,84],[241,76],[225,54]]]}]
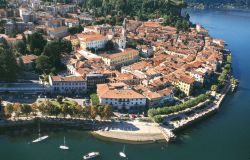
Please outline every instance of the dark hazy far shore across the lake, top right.
[{"label": "dark hazy far shore across the lake, top right", "polygon": [[249,8],[250,0],[186,0],[195,8]]}]

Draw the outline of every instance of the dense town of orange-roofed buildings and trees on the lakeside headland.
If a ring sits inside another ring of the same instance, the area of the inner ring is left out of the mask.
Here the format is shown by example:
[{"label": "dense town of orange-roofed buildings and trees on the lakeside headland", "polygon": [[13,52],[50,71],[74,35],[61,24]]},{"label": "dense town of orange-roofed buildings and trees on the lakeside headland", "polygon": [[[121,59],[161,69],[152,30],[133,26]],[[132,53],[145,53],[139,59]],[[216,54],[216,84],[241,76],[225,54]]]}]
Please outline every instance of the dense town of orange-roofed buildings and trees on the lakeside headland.
[{"label": "dense town of orange-roofed buildings and trees on the lakeside headland", "polygon": [[17,0],[0,9],[2,117],[36,110],[163,123],[174,112],[212,106],[212,97],[237,85],[226,43],[201,25],[129,16],[112,24],[111,15],[82,11],[81,3]]}]

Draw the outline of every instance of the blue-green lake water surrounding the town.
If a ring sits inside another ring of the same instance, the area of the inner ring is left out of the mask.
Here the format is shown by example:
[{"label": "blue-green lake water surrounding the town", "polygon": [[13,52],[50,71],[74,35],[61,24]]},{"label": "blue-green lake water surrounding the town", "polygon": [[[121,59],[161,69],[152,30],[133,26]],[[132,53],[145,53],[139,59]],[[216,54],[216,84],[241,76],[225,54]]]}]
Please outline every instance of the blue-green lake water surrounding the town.
[{"label": "blue-green lake water surrounding the town", "polygon": [[[221,110],[186,129],[175,142],[126,145],[130,160],[247,160],[250,158],[250,12],[190,12],[213,37],[226,40],[233,53],[233,72],[240,80],[238,91],[229,95]],[[50,138],[29,144],[37,135],[0,136],[1,160],[80,160],[83,154],[100,151],[103,160],[118,160],[123,144],[93,138],[81,131],[49,133]],[[69,151],[58,146],[66,143]]]}]

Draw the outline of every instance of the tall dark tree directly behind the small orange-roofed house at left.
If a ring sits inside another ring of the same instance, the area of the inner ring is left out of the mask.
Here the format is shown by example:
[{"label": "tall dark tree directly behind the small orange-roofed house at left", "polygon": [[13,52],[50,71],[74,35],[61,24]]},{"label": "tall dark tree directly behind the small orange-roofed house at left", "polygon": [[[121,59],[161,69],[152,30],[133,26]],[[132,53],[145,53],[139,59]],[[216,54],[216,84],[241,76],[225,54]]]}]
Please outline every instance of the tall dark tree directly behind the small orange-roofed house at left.
[{"label": "tall dark tree directly behind the small orange-roofed house at left", "polygon": [[32,54],[40,55],[47,41],[41,33],[35,32],[28,36],[28,44]]}]

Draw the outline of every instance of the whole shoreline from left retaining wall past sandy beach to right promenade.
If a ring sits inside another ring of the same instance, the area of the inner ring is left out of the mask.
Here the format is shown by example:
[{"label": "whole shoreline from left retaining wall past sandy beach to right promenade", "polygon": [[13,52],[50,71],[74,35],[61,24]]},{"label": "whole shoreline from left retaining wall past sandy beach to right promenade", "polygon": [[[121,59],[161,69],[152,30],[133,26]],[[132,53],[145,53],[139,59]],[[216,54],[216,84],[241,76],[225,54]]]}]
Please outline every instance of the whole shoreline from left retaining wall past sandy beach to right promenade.
[{"label": "whole shoreline from left retaining wall past sandy beach to right promenade", "polygon": [[[180,132],[181,130],[191,126],[194,123],[197,123],[204,118],[216,113],[221,104],[223,103],[224,98],[227,96],[228,92],[231,89],[231,85],[225,88],[225,92],[220,95],[218,101],[212,107],[204,109],[199,115],[194,115],[189,117],[189,119],[181,119],[174,122],[174,128],[169,128],[164,125],[159,125],[155,123],[146,123],[146,122],[113,122],[113,123],[98,123],[93,126],[89,121],[79,119],[44,119],[44,118],[34,118],[31,120],[22,120],[22,121],[9,121],[8,123],[0,123],[1,133],[5,133],[5,130],[20,132],[27,132],[30,130],[37,129],[37,123],[41,125],[46,124],[46,130],[57,130],[61,127],[68,129],[84,130],[90,131],[90,134],[97,139],[104,141],[113,141],[113,142],[122,142],[129,144],[149,144],[156,142],[169,142],[175,135],[174,133]],[[196,107],[196,106],[195,106]],[[195,108],[193,107],[193,108]],[[127,129],[122,128],[128,126]],[[100,129],[100,127],[102,129]],[[108,131],[105,131],[104,128],[109,127]],[[113,128],[112,128],[113,127]],[[48,129],[49,128],[49,129]],[[96,129],[99,130],[96,130]],[[6,131],[9,132],[9,131]]]}]

